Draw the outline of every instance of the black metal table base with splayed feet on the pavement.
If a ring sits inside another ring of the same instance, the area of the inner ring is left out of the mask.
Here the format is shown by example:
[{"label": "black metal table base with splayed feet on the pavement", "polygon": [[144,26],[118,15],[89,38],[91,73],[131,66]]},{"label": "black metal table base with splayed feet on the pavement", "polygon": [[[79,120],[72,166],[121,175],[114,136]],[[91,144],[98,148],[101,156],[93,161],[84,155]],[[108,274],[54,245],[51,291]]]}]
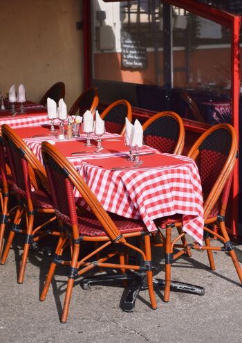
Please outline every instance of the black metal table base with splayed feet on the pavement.
[{"label": "black metal table base with splayed feet on the pavement", "polygon": [[[120,308],[122,308],[122,310],[124,310],[125,312],[133,312],[140,290],[147,290],[148,288],[145,272],[133,272],[127,274],[104,274],[93,277],[91,276],[83,279],[80,284],[84,290],[89,290],[91,288],[91,285],[126,280],[131,281],[131,283],[129,283],[127,288],[125,288],[125,297],[122,297],[120,301]],[[165,280],[153,278],[153,287],[164,290]],[[171,291],[192,293],[198,295],[205,294],[205,289],[201,286],[177,281],[171,281]]]}]

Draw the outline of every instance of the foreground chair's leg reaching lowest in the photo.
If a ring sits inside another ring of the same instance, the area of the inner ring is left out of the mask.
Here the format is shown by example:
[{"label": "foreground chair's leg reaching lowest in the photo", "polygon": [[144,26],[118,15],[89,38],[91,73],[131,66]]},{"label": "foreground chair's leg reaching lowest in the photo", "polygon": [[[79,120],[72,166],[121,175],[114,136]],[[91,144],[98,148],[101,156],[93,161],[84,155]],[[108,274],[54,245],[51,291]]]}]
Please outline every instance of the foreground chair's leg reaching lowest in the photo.
[{"label": "foreground chair's leg reaching lowest in the photo", "polygon": [[[75,270],[77,268],[79,251],[80,251],[80,245],[74,244],[73,256],[72,256],[72,260],[71,260],[71,273],[70,274],[72,274],[73,270]],[[69,311],[70,302],[71,302],[71,294],[72,294],[72,290],[73,290],[73,283],[74,283],[73,276],[69,275],[67,288],[66,288],[66,296],[65,296],[64,306],[63,306],[63,310],[62,310],[62,318],[61,318],[62,323],[66,323],[66,320],[68,317],[68,311]]]}]

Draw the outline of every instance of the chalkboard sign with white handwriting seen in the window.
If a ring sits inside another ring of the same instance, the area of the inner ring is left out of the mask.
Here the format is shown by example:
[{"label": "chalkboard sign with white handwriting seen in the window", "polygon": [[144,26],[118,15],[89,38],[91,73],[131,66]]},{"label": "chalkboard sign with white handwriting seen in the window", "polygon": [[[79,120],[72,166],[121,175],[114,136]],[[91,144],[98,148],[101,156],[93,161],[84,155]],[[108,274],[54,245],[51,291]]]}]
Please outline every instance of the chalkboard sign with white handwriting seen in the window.
[{"label": "chalkboard sign with white handwriting seen in the window", "polygon": [[147,51],[134,40],[127,31],[121,31],[122,67],[145,69],[147,67]]}]

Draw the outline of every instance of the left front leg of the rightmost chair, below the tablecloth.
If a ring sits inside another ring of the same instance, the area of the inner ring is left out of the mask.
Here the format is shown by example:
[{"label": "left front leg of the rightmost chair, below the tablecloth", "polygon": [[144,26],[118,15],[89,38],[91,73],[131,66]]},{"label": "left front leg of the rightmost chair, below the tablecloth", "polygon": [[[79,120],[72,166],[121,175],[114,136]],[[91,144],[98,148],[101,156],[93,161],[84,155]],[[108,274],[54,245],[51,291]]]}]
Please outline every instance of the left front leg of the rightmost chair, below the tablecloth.
[{"label": "left front leg of the rightmost chair, below the tablecloth", "polygon": [[171,290],[171,228],[167,225],[165,233],[165,291],[164,301],[169,301],[169,294]]}]

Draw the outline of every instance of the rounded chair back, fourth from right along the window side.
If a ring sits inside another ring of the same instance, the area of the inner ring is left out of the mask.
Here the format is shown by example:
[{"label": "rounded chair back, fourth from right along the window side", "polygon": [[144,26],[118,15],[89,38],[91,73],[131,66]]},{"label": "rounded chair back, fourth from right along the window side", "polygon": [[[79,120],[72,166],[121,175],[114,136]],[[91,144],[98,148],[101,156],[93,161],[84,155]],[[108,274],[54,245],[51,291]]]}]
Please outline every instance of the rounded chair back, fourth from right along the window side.
[{"label": "rounded chair back, fourth from right along the window side", "polygon": [[98,102],[99,98],[97,88],[90,87],[89,89],[86,89],[86,91],[84,91],[80,96],[78,96],[77,100],[75,100],[75,103],[73,103],[71,106],[68,114],[70,116],[75,116],[79,110],[80,115],[83,116],[86,110],[89,109],[89,111],[91,111],[91,113],[94,115]]}]

